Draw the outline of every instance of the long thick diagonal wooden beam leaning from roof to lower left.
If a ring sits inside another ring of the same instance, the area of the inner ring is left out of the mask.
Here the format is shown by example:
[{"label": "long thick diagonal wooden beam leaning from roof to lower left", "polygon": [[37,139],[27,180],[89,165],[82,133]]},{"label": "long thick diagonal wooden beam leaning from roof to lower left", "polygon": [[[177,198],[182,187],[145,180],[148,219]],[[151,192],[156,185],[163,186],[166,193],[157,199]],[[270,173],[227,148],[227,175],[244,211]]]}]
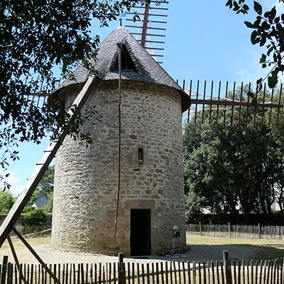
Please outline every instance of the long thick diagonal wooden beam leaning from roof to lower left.
[{"label": "long thick diagonal wooden beam leaning from roof to lower left", "polygon": [[23,208],[28,203],[28,200],[30,200],[31,195],[33,195],[33,192],[38,186],[38,183],[40,182],[41,178],[43,178],[43,175],[45,171],[48,169],[50,162],[53,160],[55,153],[58,151],[65,137],[69,133],[70,127],[74,122],[75,116],[82,109],[84,102],[86,102],[87,97],[89,97],[89,94],[94,87],[94,82],[95,82],[95,77],[89,77],[87,82],[84,84],[84,87],[82,88],[81,92],[77,95],[74,103],[72,104],[72,107],[76,107],[75,111],[73,108],[68,111],[68,114],[70,114],[70,121],[68,121],[67,126],[60,133],[58,140],[54,141],[53,143],[50,143],[50,146],[48,146],[48,148],[45,150],[43,158],[35,166],[35,170],[33,171],[31,178],[28,180],[25,187],[23,188],[23,192],[18,197],[15,204],[13,204],[13,207],[11,208],[9,214],[4,219],[4,222],[1,224],[0,248],[4,243],[4,241],[6,240],[7,236],[9,235],[12,227],[16,224],[18,217],[20,217],[21,212],[23,212]]}]

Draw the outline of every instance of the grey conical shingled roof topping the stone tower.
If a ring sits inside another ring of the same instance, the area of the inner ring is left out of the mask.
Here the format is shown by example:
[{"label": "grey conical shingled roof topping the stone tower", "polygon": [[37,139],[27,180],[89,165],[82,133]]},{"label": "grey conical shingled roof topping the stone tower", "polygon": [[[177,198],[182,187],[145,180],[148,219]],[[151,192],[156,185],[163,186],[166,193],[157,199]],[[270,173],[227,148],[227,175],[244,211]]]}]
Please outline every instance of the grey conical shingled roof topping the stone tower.
[{"label": "grey conical shingled roof topping the stone tower", "polygon": [[[136,80],[149,82],[153,84],[160,84],[166,87],[177,89],[182,97],[182,111],[188,107],[187,94],[180,88],[180,86],[173,80],[170,75],[160,67],[151,55],[133,38],[131,33],[123,27],[116,28],[109,36],[99,45],[99,52],[96,60],[89,60],[94,66],[96,75],[102,80],[118,80],[119,73],[114,66],[117,64],[117,56],[119,53],[118,43],[125,46],[126,52],[135,65],[135,70],[122,70],[122,80]],[[72,73],[72,80],[65,80],[60,87],[55,91],[58,94],[60,89],[67,87],[70,84],[79,84],[85,82],[89,77],[89,71],[82,66]]]}]

